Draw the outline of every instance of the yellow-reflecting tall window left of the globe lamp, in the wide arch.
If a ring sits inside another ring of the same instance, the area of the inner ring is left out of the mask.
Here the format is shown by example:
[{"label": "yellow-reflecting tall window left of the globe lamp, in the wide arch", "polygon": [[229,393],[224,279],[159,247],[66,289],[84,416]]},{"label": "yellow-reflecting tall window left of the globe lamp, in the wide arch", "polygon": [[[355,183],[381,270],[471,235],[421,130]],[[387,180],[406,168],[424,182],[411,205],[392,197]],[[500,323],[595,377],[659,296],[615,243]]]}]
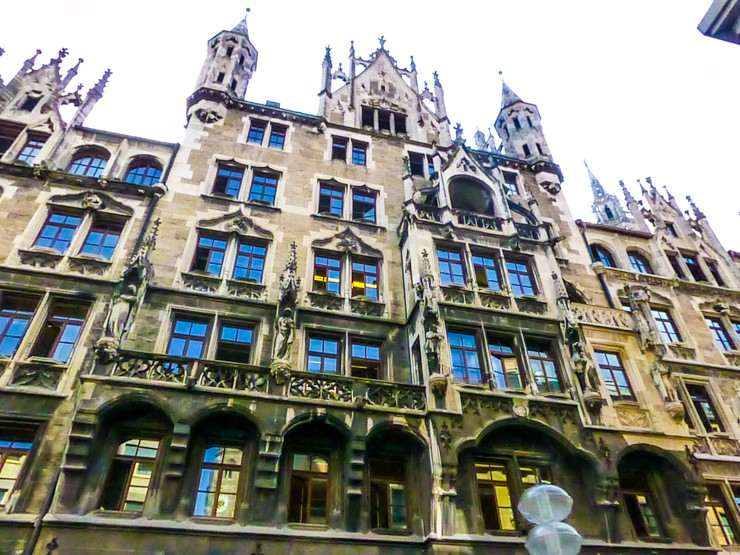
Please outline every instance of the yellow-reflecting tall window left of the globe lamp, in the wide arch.
[{"label": "yellow-reflecting tall window left of the globe lamp, in the wide arch", "polygon": [[486,530],[516,530],[509,469],[503,463],[476,463],[475,477]]}]

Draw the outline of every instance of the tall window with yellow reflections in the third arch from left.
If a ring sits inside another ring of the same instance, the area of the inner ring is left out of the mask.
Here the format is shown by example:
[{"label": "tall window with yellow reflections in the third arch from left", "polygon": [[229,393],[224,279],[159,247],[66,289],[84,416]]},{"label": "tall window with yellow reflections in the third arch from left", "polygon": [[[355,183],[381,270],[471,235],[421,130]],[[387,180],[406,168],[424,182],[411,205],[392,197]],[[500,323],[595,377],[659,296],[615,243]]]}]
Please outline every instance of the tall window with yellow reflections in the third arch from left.
[{"label": "tall window with yellow reflections in the third arch from left", "polygon": [[329,461],[311,454],[293,454],[288,522],[326,524],[329,502]]}]

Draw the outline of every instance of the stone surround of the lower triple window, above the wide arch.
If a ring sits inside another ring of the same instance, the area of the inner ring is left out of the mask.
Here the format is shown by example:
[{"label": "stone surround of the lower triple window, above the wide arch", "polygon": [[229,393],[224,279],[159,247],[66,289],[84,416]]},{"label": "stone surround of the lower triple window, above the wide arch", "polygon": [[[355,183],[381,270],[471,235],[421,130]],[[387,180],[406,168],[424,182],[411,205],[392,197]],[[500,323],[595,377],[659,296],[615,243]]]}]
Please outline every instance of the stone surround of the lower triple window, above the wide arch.
[{"label": "stone surround of the lower triple window, above the wide arch", "polygon": [[[512,348],[514,350],[514,355],[517,358],[517,362],[519,364],[519,375],[522,380],[522,389],[521,390],[514,390],[517,393],[521,394],[522,392],[526,392],[527,394],[533,394],[533,387],[535,385],[535,379],[534,379],[534,373],[532,371],[532,366],[529,361],[529,356],[527,355],[527,341],[531,342],[540,342],[543,344],[547,344],[549,346],[549,354],[553,357],[555,360],[555,366],[557,368],[558,372],[558,381],[560,383],[560,388],[563,392],[567,391],[568,386],[570,386],[570,380],[566,380],[566,365],[564,364],[565,357],[563,356],[563,351],[560,347],[560,344],[557,340],[557,337],[555,336],[539,336],[539,335],[533,335],[531,333],[525,334],[521,329],[519,330],[498,330],[495,328],[489,328],[486,327],[483,324],[480,324],[477,327],[471,327],[469,325],[456,325],[455,323],[449,323],[447,327],[452,327],[454,331],[462,332],[462,333],[469,333],[471,335],[475,336],[475,343],[476,347],[478,349],[478,356],[480,357],[480,369],[482,374],[482,380],[480,384],[467,384],[462,382],[457,382],[459,386],[461,387],[472,387],[472,388],[486,388],[486,389],[493,389],[493,391],[502,391],[507,392],[508,390],[499,390],[495,387],[492,387],[491,384],[494,383],[493,380],[493,368],[491,366],[491,360],[490,360],[490,350],[488,345],[488,337],[489,336],[500,336],[506,339],[510,339],[512,342]],[[444,347],[443,350],[446,351],[445,357],[447,358],[447,364],[449,364],[449,367],[452,368],[452,355],[450,353],[450,347],[447,344],[446,341],[446,331],[445,331],[445,341],[444,341]],[[566,395],[566,393],[550,393],[546,392],[544,394],[537,393],[538,395],[553,395],[553,396],[563,396]]]}]

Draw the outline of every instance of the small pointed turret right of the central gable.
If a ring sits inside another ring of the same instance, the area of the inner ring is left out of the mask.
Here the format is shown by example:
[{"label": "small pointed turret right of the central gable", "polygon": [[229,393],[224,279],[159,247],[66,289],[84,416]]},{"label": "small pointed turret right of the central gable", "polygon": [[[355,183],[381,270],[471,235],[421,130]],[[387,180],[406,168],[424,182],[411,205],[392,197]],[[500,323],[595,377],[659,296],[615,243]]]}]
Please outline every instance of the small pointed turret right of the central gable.
[{"label": "small pointed turret right of the central gable", "polygon": [[507,156],[552,161],[537,106],[524,102],[503,80],[495,127]]}]

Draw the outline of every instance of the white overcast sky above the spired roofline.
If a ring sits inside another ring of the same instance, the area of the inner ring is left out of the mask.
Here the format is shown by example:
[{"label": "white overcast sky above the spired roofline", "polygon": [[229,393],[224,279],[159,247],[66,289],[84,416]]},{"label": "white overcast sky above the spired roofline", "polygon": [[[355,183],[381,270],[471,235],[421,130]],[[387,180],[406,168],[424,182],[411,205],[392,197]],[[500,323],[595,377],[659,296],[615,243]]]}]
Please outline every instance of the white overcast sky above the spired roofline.
[{"label": "white overcast sky above the spired roofline", "polygon": [[[728,249],[740,250],[740,46],[696,29],[710,0],[267,1],[248,5],[259,51],[255,102],[316,113],[324,47],[336,68],[350,40],[367,57],[385,35],[420,84],[439,71],[447,111],[473,145],[500,106],[500,77],[538,105],[574,215],[593,220],[583,160],[611,192],[651,176],[685,205],[691,194]],[[236,0],[5,2],[0,75],[36,48],[85,59],[85,90],[113,76],[87,125],[178,142],[206,41],[244,13]],[[67,66],[68,67],[68,66]],[[76,83],[76,82],[75,82]],[[399,183],[400,186],[400,183]],[[688,207],[686,205],[686,207]]]}]

